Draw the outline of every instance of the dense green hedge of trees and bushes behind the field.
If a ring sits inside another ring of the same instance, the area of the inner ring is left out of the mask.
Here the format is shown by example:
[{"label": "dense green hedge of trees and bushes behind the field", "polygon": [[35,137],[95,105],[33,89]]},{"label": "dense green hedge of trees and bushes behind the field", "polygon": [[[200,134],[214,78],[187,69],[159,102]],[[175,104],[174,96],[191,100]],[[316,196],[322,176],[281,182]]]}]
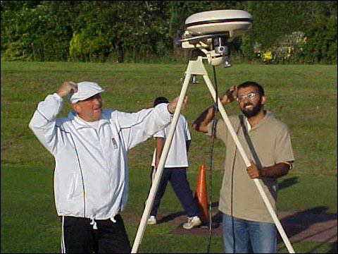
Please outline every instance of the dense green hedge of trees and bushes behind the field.
[{"label": "dense green hedge of trees and bushes behind the field", "polygon": [[253,16],[234,59],[337,64],[337,1],[1,1],[1,61],[182,61],[184,20],[219,9]]}]

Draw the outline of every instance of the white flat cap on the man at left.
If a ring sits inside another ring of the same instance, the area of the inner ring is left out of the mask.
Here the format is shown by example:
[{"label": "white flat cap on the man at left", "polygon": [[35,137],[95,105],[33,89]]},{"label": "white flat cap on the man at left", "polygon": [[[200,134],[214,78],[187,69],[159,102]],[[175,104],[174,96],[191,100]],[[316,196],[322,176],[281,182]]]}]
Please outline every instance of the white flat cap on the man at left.
[{"label": "white flat cap on the man at left", "polygon": [[68,95],[68,100],[70,101],[70,103],[76,103],[78,101],[88,99],[89,97],[97,95],[100,92],[104,92],[104,89],[100,87],[97,83],[83,81],[77,83],[77,92]]}]

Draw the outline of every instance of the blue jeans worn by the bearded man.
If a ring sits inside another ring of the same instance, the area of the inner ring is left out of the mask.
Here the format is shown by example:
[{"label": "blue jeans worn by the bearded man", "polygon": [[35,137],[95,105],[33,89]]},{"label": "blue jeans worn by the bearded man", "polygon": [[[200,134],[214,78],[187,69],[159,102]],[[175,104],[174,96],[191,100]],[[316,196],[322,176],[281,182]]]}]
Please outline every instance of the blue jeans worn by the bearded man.
[{"label": "blue jeans worn by the bearded man", "polygon": [[225,253],[277,253],[277,229],[273,223],[237,219],[223,213]]}]

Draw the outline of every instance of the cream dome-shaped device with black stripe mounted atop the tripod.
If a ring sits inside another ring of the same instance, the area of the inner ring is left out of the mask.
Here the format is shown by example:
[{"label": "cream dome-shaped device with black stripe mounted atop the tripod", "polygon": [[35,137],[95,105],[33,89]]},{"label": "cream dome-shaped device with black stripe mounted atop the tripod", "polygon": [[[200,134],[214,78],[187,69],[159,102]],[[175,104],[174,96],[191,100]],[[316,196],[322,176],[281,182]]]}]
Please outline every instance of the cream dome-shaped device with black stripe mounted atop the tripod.
[{"label": "cream dome-shaped device with black stripe mounted atop the tripod", "polygon": [[246,11],[218,10],[195,13],[185,20],[180,44],[186,49],[200,49],[212,66],[223,63],[230,67],[228,42],[244,35],[252,26],[253,18]]}]

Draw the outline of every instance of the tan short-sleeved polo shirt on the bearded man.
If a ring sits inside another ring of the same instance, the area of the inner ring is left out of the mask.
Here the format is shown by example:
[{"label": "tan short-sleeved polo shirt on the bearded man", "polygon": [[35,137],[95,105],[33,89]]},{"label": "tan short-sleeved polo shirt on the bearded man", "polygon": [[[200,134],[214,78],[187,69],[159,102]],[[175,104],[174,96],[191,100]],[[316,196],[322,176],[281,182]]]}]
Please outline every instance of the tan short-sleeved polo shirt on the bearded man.
[{"label": "tan short-sleeved polo shirt on the bearded man", "polygon": [[[287,126],[266,111],[264,118],[252,128],[246,126],[245,116],[229,117],[246,156],[253,159],[258,167],[270,167],[280,162],[293,162],[294,154]],[[242,120],[241,120],[242,119]],[[211,135],[212,122],[208,125]],[[220,189],[219,210],[239,219],[273,223],[253,179],[246,172],[246,164],[239,153],[228,128],[220,119],[216,124],[216,138],[226,146],[225,174]],[[263,189],[276,210],[277,179],[260,180]]]}]

